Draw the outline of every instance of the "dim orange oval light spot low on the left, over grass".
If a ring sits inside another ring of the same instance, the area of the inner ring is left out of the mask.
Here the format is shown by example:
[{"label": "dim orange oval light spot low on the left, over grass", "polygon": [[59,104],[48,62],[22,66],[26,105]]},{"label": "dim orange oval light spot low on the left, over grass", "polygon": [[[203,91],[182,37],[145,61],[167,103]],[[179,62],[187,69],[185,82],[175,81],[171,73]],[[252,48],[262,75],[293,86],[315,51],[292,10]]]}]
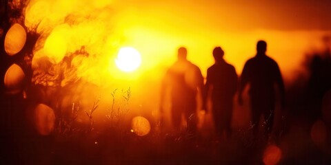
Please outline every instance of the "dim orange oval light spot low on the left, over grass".
[{"label": "dim orange oval light spot low on the left, over grass", "polygon": [[34,122],[40,135],[50,135],[54,130],[55,114],[46,104],[38,104],[34,109]]}]

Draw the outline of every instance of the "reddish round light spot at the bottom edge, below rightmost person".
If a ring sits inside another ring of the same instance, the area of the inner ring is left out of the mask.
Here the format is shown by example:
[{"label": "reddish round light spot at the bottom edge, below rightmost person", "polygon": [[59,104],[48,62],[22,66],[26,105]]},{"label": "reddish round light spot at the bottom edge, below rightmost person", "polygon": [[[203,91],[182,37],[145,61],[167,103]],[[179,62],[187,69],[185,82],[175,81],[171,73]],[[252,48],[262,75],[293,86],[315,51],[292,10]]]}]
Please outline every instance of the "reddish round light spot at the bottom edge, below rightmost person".
[{"label": "reddish round light spot at the bottom edge, below rightmost person", "polygon": [[281,148],[276,145],[270,145],[265,148],[263,154],[263,163],[267,165],[278,164],[281,160]]}]

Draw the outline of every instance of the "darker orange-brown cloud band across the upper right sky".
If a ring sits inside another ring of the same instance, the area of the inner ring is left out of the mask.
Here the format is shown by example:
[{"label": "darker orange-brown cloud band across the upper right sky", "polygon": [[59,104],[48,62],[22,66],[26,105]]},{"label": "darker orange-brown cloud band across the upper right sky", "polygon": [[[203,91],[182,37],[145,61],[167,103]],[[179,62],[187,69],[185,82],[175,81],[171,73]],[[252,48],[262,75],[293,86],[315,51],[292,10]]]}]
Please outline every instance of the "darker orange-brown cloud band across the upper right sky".
[{"label": "darker orange-brown cloud band across the upper right sky", "polygon": [[[330,30],[328,0],[294,1],[114,1],[114,8],[134,8],[165,21],[197,23],[217,30]],[[185,21],[187,20],[187,21]],[[202,25],[202,26],[201,26]],[[190,27],[190,25],[186,25]]]}]

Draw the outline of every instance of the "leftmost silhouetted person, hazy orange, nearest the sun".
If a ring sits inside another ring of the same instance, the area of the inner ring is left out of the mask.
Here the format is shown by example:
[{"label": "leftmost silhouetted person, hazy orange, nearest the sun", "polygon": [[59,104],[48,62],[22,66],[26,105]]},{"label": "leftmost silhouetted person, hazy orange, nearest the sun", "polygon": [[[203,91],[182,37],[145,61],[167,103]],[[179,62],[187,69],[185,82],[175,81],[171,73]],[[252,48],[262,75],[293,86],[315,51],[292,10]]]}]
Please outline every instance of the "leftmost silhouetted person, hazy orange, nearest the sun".
[{"label": "leftmost silhouetted person, hazy orange, nearest the sun", "polygon": [[[172,125],[175,130],[181,129],[181,118],[188,123],[188,131],[197,131],[197,94],[203,89],[203,76],[199,67],[186,59],[187,50],[180,47],[178,60],[166,72],[161,85],[161,111],[165,89],[170,87]],[[202,94],[202,92],[200,92]]]}]

